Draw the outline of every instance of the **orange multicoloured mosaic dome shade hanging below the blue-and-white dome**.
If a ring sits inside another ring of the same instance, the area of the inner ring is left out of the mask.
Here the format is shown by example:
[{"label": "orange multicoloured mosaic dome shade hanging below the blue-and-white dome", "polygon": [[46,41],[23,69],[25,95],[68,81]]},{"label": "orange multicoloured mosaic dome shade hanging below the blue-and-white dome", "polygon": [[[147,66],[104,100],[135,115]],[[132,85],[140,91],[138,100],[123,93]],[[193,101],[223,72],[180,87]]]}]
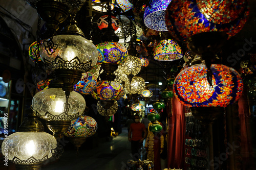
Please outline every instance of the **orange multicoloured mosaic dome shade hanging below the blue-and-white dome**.
[{"label": "orange multicoloured mosaic dome shade hanging below the blue-and-white dome", "polygon": [[154,53],[154,59],[159,61],[174,61],[182,57],[181,47],[173,39],[161,40]]}]

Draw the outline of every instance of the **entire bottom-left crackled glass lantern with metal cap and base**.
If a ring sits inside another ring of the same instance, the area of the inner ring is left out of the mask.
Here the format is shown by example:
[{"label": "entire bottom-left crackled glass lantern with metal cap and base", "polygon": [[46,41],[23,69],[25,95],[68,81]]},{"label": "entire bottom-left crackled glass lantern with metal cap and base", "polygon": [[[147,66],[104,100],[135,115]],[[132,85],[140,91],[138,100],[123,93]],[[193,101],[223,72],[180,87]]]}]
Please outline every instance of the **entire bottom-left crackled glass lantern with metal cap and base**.
[{"label": "entire bottom-left crackled glass lantern with metal cap and base", "polygon": [[2,143],[3,155],[15,163],[18,170],[40,169],[41,163],[52,157],[55,148],[56,139],[44,132],[44,126],[34,114]]}]

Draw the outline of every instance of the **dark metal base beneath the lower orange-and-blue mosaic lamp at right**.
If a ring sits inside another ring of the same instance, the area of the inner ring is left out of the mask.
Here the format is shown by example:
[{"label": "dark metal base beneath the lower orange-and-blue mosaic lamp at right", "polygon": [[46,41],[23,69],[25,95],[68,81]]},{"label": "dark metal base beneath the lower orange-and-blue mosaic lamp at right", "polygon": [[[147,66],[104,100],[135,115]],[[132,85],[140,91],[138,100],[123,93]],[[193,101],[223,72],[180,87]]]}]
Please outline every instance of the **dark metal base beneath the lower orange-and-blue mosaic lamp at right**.
[{"label": "dark metal base beneath the lower orange-and-blue mosaic lamp at right", "polygon": [[224,113],[224,107],[190,107],[191,113],[202,125],[211,125]]}]

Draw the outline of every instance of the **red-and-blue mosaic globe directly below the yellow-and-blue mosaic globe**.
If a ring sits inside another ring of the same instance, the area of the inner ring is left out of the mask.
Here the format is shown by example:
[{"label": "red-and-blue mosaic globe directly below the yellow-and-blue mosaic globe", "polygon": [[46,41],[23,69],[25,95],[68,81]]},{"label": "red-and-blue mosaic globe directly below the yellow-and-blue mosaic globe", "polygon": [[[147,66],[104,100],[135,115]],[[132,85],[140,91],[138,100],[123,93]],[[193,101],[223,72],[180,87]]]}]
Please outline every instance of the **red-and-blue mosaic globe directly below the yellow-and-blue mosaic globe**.
[{"label": "red-and-blue mosaic globe directly below the yellow-and-blue mosaic globe", "polygon": [[119,100],[124,95],[123,86],[114,81],[98,81],[92,96],[96,100]]}]

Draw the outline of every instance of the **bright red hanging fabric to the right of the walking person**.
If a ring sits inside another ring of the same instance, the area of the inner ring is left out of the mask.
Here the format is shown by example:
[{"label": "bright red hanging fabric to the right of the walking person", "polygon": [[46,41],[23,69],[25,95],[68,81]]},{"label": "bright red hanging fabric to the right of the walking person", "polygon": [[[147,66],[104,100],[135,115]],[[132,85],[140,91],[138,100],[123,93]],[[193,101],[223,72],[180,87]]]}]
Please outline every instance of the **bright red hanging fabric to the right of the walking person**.
[{"label": "bright red hanging fabric to the right of the walking person", "polygon": [[185,106],[174,96],[173,116],[168,118],[167,167],[183,168],[185,164]]}]

